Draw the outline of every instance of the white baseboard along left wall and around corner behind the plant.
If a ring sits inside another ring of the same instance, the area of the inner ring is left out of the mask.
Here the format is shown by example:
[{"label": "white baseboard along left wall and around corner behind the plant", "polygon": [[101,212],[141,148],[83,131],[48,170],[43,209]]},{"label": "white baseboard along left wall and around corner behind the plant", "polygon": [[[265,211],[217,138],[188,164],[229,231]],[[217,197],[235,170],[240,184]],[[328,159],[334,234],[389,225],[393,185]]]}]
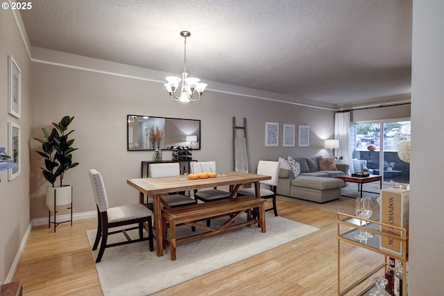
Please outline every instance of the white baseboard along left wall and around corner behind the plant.
[{"label": "white baseboard along left wall and around corner behind the plant", "polygon": [[[82,219],[88,219],[88,218],[95,218],[97,217],[97,211],[85,211],[83,213],[76,213],[72,215],[72,220],[82,220]],[[71,218],[70,214],[67,215],[60,215],[57,216],[60,221],[69,220]],[[31,220],[31,222],[28,225],[28,229],[26,229],[25,235],[22,238],[22,243],[20,243],[19,250],[17,250],[17,254],[15,255],[15,259],[12,262],[12,266],[8,272],[8,277],[6,277],[3,284],[8,284],[14,280],[15,272],[17,271],[17,268],[19,267],[20,259],[22,259],[22,254],[25,250],[26,243],[28,242],[28,238],[31,234],[31,231],[33,230],[34,226],[40,226],[40,225],[47,225],[48,224],[48,218],[37,218]]]}]

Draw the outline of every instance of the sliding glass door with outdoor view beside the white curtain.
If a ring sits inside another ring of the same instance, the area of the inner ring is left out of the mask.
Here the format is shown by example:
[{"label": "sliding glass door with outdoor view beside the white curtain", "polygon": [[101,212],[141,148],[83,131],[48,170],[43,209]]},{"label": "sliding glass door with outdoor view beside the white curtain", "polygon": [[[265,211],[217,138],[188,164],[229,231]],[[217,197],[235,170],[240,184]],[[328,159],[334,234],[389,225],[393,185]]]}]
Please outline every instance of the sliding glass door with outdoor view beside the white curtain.
[{"label": "sliding glass door with outdoor view beside the white curtain", "polygon": [[398,157],[398,146],[410,141],[410,121],[372,121],[350,125],[354,171],[368,168],[384,182],[409,183],[410,164]]}]

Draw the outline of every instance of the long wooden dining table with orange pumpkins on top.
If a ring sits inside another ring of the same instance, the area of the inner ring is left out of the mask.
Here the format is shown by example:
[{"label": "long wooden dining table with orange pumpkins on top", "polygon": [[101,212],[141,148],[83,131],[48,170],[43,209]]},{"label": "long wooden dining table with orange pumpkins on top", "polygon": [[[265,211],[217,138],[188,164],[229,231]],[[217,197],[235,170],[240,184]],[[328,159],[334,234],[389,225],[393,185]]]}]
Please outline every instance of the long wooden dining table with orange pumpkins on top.
[{"label": "long wooden dining table with orange pumpkins on top", "polygon": [[227,172],[220,177],[188,180],[184,175],[173,177],[146,177],[128,179],[126,183],[139,191],[139,202],[144,203],[144,195],[153,195],[153,208],[155,220],[155,242],[157,256],[163,255],[162,246],[162,201],[164,194],[178,191],[191,191],[193,189],[210,188],[214,186],[230,186],[230,198],[236,198],[237,189],[241,184],[254,183],[256,196],[259,196],[259,181],[270,180],[269,175],[253,173]]}]

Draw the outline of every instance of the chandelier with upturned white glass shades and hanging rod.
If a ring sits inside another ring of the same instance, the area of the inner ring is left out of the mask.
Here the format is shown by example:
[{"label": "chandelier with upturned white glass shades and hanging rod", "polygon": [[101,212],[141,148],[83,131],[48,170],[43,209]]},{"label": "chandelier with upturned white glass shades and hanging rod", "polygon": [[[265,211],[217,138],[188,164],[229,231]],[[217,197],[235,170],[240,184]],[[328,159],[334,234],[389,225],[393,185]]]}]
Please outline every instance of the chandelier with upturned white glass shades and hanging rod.
[{"label": "chandelier with upturned white glass shades and hanging rod", "polygon": [[[185,54],[184,54],[184,62],[183,62],[183,72],[182,78],[177,76],[168,76],[167,81],[164,86],[167,88],[167,92],[171,96],[171,101],[173,102],[184,102],[188,103],[189,101],[197,102],[200,101],[200,98],[207,87],[206,83],[198,83],[199,78],[188,78],[187,73],[187,37],[191,36],[191,33],[188,31],[180,32],[180,36],[185,38]],[[176,96],[175,92],[178,89],[178,86],[182,82],[180,87],[180,95]],[[196,92],[199,98],[193,98],[193,94]]]}]

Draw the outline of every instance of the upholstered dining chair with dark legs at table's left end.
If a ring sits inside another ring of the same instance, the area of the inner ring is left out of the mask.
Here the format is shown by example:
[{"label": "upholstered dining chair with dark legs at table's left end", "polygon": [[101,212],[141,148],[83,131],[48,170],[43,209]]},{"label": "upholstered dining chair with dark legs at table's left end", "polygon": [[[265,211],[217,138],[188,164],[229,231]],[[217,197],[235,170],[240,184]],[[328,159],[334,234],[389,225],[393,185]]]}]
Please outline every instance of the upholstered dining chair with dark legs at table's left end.
[{"label": "upholstered dining chair with dark legs at table's left end", "polygon": [[[101,174],[94,169],[89,170],[89,179],[91,180],[92,192],[94,193],[94,200],[96,201],[98,214],[96,240],[94,241],[92,250],[96,250],[99,246],[99,242],[101,241],[96,263],[99,263],[102,260],[103,252],[105,252],[106,247],[115,247],[117,245],[125,245],[127,243],[137,243],[139,241],[148,240],[149,248],[152,252],[154,250],[153,223],[151,220],[153,211],[145,207],[143,204],[125,204],[120,207],[108,207],[108,196],[106,195],[105,184],[103,183]],[[147,238],[144,238],[143,234],[144,223],[148,224]],[[135,224],[138,224],[138,226],[109,232],[109,230],[114,227]],[[139,229],[139,239],[131,240],[128,234],[126,234],[126,231],[132,229]],[[119,232],[122,232],[128,240],[108,244],[108,235],[117,234]]]}]

